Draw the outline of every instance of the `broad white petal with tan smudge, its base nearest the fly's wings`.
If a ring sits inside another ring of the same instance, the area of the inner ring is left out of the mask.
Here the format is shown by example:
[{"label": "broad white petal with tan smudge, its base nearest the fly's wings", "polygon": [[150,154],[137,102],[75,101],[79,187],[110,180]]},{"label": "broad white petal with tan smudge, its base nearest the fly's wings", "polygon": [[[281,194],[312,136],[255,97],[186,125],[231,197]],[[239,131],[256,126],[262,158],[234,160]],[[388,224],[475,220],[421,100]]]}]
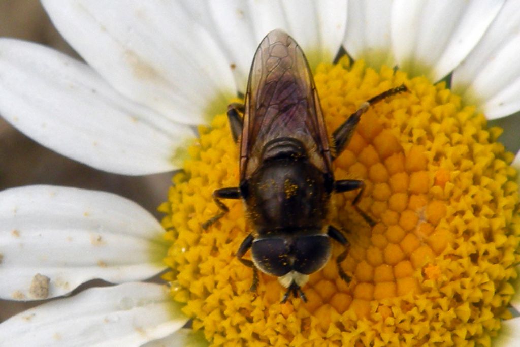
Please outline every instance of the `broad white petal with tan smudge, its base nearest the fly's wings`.
[{"label": "broad white petal with tan smudge, its base nearest the fly's wings", "polygon": [[223,52],[180,2],[43,4],[63,37],[118,91],[172,120],[207,122],[209,107],[236,94]]}]

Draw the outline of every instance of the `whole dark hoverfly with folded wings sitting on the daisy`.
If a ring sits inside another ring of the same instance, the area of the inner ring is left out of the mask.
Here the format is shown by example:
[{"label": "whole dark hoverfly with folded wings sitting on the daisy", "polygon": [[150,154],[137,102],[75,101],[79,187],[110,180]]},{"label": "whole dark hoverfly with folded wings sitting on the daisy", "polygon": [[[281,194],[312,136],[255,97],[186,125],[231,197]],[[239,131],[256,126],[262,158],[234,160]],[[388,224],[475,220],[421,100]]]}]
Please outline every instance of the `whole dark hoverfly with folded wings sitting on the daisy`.
[{"label": "whole dark hoverfly with folded wings sitting on the daisy", "polygon": [[[253,232],[243,240],[237,257],[253,268],[252,291],[259,269],[277,276],[288,288],[282,303],[291,293],[306,301],[301,287],[309,274],[329,261],[331,239],[345,247],[336,262],[341,278],[350,280],[340,266],[349,243],[339,229],[325,222],[331,194],[359,189],[352,204],[369,224],[373,222],[357,208],[363,182],[335,181],[332,161],[347,146],[370,105],[406,90],[401,85],[364,102],[332,133],[329,144],[302,49],[281,30],[265,36],[253,58],[245,104],[231,104],[227,112],[232,137],[240,141],[239,186],[213,192],[220,213],[202,225],[205,229],[228,212],[220,199],[242,199]],[[252,260],[243,259],[249,249]]]}]

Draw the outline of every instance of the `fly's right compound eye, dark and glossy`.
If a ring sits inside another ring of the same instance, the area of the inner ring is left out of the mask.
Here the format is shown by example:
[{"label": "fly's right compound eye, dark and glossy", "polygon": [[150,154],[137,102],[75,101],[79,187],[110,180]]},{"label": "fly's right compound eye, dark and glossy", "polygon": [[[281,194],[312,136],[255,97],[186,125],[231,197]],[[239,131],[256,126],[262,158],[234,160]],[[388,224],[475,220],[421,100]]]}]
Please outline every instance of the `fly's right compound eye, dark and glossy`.
[{"label": "fly's right compound eye, dark and glossy", "polygon": [[329,261],[331,246],[326,235],[298,237],[294,246],[293,268],[301,274],[312,274]]}]

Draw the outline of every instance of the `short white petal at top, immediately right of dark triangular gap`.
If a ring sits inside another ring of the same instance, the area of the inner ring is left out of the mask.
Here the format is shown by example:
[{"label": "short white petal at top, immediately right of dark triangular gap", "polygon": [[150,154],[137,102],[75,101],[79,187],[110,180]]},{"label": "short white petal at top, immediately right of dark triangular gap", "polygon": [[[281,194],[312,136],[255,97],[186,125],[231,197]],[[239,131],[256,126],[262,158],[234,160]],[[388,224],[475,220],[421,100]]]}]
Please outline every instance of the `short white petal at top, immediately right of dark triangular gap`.
[{"label": "short white petal at top, immediately right of dark triangular gap", "polygon": [[395,65],[390,34],[391,9],[392,1],[349,0],[344,45],[351,57],[363,59],[375,69]]}]

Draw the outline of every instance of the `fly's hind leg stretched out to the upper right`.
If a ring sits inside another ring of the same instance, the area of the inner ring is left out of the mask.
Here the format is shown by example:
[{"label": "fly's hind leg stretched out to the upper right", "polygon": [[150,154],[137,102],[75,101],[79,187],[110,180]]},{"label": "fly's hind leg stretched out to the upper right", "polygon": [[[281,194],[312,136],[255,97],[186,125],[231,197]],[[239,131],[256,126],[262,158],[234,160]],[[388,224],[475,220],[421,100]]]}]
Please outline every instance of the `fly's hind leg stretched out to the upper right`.
[{"label": "fly's hind leg stretched out to the upper right", "polygon": [[354,134],[356,126],[358,125],[359,120],[361,119],[361,115],[367,112],[368,108],[371,105],[374,105],[377,102],[384,100],[389,96],[406,91],[408,91],[408,88],[404,84],[402,84],[397,88],[388,89],[386,92],[376,95],[370,100],[363,102],[359,109],[353,114],[351,114],[350,117],[343,124],[337,127],[337,129],[332,133],[336,149],[334,158],[339,156],[341,152],[345,149],[345,147],[348,145],[348,143],[350,142],[350,138]]}]

